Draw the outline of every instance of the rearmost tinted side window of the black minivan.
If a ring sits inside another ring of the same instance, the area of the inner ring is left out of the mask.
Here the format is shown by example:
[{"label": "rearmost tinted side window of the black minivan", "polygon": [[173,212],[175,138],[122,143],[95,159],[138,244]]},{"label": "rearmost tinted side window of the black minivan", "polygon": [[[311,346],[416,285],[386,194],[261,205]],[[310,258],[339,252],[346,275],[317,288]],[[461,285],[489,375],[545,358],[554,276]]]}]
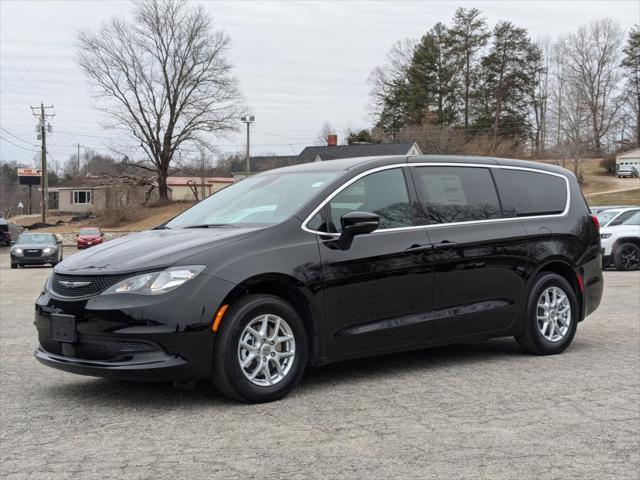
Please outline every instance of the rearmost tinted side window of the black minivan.
[{"label": "rearmost tinted side window of the black minivan", "polygon": [[502,169],[511,195],[510,206],[519,217],[562,213],[567,204],[567,183],[562,177],[524,170]]}]

